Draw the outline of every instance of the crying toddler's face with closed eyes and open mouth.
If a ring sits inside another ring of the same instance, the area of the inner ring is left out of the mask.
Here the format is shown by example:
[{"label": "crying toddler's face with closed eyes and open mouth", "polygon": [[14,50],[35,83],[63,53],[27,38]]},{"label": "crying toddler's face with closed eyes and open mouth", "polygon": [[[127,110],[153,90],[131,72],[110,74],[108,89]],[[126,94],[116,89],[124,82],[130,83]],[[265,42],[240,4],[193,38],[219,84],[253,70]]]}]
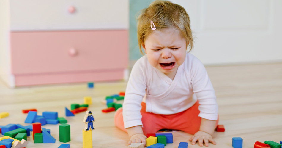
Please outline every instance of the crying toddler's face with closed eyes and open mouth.
[{"label": "crying toddler's face with closed eyes and open mouth", "polygon": [[142,45],[149,63],[166,75],[174,75],[186,57],[186,40],[173,28],[154,30]]}]

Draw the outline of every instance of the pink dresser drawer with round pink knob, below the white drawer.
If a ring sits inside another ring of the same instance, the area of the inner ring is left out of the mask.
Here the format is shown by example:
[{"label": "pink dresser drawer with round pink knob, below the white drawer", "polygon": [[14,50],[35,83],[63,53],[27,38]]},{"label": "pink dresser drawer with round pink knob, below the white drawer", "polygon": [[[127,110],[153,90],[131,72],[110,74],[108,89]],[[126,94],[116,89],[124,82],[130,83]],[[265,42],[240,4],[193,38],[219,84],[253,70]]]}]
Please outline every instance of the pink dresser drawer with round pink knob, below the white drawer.
[{"label": "pink dresser drawer with round pink knob, below the white drawer", "polygon": [[14,75],[120,70],[128,65],[127,30],[11,32],[10,36]]}]

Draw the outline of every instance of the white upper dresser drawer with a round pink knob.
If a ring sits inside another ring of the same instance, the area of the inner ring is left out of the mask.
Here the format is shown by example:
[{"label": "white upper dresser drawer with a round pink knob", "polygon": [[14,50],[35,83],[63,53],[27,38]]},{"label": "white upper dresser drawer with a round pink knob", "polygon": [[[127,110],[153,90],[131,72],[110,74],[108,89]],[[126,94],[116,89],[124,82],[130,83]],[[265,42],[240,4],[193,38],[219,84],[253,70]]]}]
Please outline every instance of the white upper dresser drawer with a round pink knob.
[{"label": "white upper dresser drawer with a round pink knob", "polygon": [[10,0],[11,30],[128,29],[128,5],[129,0]]}]

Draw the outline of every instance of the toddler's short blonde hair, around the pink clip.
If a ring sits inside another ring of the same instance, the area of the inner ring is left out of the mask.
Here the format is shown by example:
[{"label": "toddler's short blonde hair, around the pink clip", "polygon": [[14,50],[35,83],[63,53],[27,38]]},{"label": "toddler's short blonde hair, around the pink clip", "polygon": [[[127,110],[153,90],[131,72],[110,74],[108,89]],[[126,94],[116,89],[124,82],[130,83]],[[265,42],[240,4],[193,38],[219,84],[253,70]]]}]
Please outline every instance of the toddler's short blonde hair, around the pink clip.
[{"label": "toddler's short blonde hair, around the pink clip", "polygon": [[168,28],[176,28],[186,40],[186,48],[193,48],[192,31],[190,28],[190,18],[185,9],[170,1],[156,0],[148,8],[141,11],[137,18],[137,37],[140,52],[141,46],[152,33],[151,21],[154,22],[156,29],[162,31]]}]

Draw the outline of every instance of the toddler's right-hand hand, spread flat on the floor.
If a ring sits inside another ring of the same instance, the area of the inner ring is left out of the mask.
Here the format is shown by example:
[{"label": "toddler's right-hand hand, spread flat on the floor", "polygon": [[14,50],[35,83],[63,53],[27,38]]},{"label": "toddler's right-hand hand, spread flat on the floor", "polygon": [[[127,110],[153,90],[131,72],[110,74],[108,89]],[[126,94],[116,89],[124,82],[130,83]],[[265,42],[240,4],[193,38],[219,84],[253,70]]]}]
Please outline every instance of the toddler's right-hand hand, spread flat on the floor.
[{"label": "toddler's right-hand hand, spread flat on the floor", "polygon": [[197,133],[195,133],[194,136],[192,136],[189,141],[192,141],[192,145],[195,145],[196,142],[199,142],[200,146],[203,146],[203,141],[206,145],[206,147],[209,146],[209,142],[211,142],[212,144],[216,144],[215,141],[212,139],[212,135],[203,132],[203,131],[198,131]]}]

